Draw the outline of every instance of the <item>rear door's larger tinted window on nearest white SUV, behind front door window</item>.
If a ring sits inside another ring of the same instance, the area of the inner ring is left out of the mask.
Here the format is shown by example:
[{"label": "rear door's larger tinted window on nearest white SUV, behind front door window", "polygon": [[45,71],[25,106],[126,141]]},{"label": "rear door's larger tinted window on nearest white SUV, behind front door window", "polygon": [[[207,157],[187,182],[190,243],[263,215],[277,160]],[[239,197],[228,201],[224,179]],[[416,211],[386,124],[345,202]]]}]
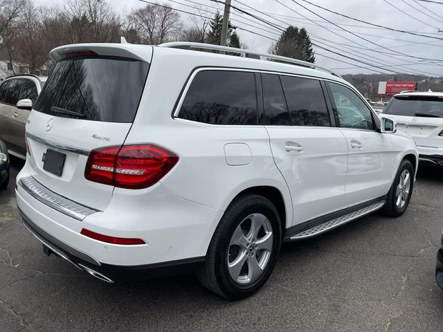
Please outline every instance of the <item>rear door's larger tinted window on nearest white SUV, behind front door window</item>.
[{"label": "rear door's larger tinted window on nearest white SUV, behind front door window", "polygon": [[320,81],[292,76],[281,79],[294,126],[331,125]]}]

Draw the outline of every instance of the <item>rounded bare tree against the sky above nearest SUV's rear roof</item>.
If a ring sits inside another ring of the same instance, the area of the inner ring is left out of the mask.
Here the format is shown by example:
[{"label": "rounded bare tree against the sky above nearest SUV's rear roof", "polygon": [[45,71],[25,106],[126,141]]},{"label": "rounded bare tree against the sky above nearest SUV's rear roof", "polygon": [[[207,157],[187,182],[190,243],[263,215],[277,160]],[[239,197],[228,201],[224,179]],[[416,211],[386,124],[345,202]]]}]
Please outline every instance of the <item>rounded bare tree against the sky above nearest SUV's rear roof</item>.
[{"label": "rounded bare tree against the sky above nearest SUV's rear roof", "polygon": [[168,4],[147,4],[129,14],[129,24],[136,30],[141,42],[150,45],[168,42],[179,36],[183,26],[180,15]]}]

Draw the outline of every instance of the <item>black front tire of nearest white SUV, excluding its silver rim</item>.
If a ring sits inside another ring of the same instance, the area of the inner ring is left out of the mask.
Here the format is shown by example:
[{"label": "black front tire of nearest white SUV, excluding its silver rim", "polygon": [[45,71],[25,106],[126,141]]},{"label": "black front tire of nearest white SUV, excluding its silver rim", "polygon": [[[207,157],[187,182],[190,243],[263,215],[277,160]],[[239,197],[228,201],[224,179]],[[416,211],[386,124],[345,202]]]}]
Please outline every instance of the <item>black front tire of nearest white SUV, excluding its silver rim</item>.
[{"label": "black front tire of nearest white SUV, excluding its silver rim", "polygon": [[[397,186],[400,183],[401,174],[407,170],[410,174],[410,190],[408,194],[408,198],[405,200],[405,204],[401,207],[397,206],[397,196],[396,190]],[[401,214],[404,214],[406,209],[408,208],[410,197],[413,194],[413,188],[414,188],[414,167],[413,164],[410,163],[409,160],[401,160],[399,169],[397,170],[397,174],[395,174],[394,182],[392,183],[392,186],[390,187],[390,190],[388,192],[388,196],[386,198],[386,204],[383,207],[383,213],[387,216],[397,217],[401,216]]]}]

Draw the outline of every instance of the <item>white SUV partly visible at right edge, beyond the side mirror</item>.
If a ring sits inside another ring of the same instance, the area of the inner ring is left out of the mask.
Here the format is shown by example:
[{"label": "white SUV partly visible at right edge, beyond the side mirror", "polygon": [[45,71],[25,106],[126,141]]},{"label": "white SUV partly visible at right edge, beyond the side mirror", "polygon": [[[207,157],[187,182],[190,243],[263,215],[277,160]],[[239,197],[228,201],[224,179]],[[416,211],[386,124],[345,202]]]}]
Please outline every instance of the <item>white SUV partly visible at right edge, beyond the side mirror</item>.
[{"label": "white SUV partly visible at right edge, beyond the side mirror", "polygon": [[443,166],[443,92],[399,93],[382,116],[413,137],[420,160]]}]

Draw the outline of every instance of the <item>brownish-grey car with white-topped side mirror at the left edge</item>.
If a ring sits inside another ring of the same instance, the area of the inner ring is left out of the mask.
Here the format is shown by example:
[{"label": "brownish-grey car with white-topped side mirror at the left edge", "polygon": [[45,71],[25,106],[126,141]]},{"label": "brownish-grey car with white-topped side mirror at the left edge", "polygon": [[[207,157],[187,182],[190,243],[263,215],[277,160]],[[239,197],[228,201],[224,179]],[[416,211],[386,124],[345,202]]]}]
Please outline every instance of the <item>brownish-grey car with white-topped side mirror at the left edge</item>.
[{"label": "brownish-grey car with white-topped side mirror at the left edge", "polygon": [[0,84],[0,140],[12,156],[26,158],[25,125],[46,77],[15,75]]}]

